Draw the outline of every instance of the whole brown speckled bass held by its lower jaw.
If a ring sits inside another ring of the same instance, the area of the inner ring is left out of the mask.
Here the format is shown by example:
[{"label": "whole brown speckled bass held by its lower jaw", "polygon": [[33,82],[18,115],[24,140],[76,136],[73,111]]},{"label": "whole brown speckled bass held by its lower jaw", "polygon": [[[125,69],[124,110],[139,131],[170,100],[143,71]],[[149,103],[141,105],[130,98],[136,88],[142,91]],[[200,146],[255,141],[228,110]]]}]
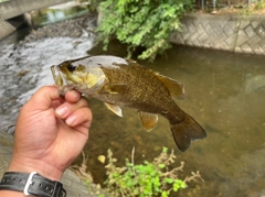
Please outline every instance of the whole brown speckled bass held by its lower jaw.
[{"label": "whole brown speckled bass held by its lower jaw", "polygon": [[147,131],[156,128],[158,114],[168,119],[174,142],[184,152],[206,132],[176,102],[184,98],[184,85],[160,75],[134,59],[112,55],[85,56],[51,66],[61,95],[70,89],[102,100],[119,117],[121,108],[138,110]]}]

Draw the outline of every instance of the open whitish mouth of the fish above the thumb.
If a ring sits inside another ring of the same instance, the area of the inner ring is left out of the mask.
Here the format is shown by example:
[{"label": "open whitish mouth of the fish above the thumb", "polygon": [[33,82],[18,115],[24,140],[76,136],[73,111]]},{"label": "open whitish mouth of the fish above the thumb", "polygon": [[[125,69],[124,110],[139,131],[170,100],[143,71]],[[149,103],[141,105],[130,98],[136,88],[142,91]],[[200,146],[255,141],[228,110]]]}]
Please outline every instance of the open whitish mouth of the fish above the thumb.
[{"label": "open whitish mouth of the fish above the thumb", "polygon": [[73,89],[73,86],[67,85],[66,78],[60,72],[59,66],[51,66],[51,72],[60,95],[64,96],[67,90]]}]

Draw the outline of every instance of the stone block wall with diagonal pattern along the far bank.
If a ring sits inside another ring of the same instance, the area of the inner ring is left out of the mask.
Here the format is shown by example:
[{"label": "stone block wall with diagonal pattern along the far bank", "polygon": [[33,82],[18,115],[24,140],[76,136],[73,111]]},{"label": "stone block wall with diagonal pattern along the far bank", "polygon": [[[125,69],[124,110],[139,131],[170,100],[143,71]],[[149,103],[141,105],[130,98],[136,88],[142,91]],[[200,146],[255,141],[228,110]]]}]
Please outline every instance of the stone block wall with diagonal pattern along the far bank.
[{"label": "stone block wall with diagonal pattern along the far bank", "polygon": [[265,55],[265,17],[192,14],[182,24],[172,43]]}]

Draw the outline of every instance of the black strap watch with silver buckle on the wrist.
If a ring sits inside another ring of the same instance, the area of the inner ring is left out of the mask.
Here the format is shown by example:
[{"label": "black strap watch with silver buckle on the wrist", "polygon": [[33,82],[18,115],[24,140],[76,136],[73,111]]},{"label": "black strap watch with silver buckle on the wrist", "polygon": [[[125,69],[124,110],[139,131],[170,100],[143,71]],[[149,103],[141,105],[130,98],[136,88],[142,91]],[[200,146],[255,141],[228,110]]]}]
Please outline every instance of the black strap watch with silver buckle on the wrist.
[{"label": "black strap watch with silver buckle on the wrist", "polygon": [[18,173],[7,172],[0,182],[0,190],[17,190],[25,196],[66,197],[63,184],[41,176],[36,172]]}]

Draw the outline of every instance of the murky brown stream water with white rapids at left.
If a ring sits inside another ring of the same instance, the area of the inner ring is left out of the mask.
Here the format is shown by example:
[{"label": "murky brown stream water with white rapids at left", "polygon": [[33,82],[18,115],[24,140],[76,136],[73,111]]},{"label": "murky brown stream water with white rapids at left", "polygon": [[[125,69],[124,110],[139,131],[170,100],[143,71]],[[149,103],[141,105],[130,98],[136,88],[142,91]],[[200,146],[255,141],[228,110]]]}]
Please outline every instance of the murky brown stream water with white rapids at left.
[{"label": "murky brown stream water with white rapids at left", "polygon": [[[20,107],[43,85],[51,85],[50,66],[67,58],[103,54],[93,48],[94,36],[55,37],[18,48],[18,34],[0,43],[0,130],[12,133]],[[123,56],[126,47],[114,42],[108,54]],[[85,153],[88,171],[103,182],[104,164],[97,157],[110,147],[124,164],[135,146],[135,162],[151,161],[163,146],[176,151],[176,166],[186,162],[181,177],[200,171],[204,184],[191,184],[180,196],[265,196],[265,57],[173,46],[167,58],[142,65],[172,77],[186,86],[186,99],[178,105],[206,131],[181,153],[168,121],[159,117],[150,133],[140,124],[137,111],[124,110],[119,118],[97,100],[89,99],[94,121]],[[29,136],[30,138],[30,136]],[[77,160],[81,162],[81,157]]]}]

